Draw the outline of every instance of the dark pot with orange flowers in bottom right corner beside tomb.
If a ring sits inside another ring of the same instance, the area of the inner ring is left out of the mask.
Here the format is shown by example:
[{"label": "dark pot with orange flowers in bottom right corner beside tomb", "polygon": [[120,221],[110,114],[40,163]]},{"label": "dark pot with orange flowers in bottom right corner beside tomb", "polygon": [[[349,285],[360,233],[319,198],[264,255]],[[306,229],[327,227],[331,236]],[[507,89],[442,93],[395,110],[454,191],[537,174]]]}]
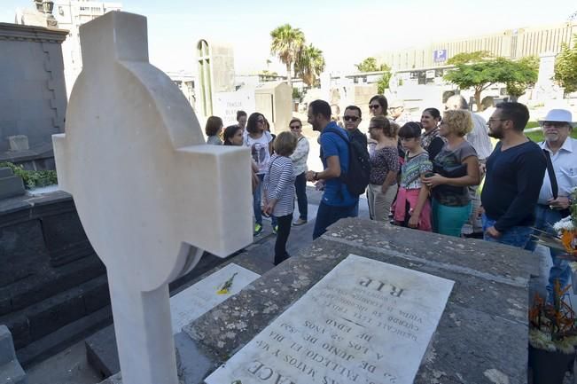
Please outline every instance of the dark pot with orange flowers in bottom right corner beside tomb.
[{"label": "dark pot with orange flowers in bottom right corner beside tomb", "polygon": [[577,345],[575,312],[566,292],[555,285],[553,303],[535,295],[529,310],[529,366],[534,384],[562,384],[572,369]]}]

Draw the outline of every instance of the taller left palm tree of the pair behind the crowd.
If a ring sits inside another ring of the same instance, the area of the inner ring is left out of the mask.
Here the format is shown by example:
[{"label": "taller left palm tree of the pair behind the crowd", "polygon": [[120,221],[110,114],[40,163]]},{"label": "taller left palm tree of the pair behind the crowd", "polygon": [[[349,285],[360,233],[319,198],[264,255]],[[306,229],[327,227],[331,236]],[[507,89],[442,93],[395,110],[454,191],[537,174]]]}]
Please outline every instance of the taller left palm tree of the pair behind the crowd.
[{"label": "taller left palm tree of the pair behind the crowd", "polygon": [[292,64],[300,48],[305,43],[305,35],[299,28],[293,28],[290,24],[285,24],[273,29],[270,32],[270,37],[272,37],[270,53],[277,55],[278,59],[285,64],[287,81],[292,87]]}]

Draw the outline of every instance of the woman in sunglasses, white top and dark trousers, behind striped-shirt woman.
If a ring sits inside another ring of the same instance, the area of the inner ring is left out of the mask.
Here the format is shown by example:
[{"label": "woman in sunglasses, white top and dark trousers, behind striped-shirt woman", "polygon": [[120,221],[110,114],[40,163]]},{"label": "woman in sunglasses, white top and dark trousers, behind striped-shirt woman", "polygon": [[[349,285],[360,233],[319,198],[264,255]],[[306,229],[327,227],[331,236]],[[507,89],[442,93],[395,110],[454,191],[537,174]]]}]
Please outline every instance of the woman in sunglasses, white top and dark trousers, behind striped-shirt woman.
[{"label": "woman in sunglasses, white top and dark trousers, behind striped-shirt woman", "polygon": [[308,200],[307,200],[307,160],[308,160],[308,140],[302,135],[302,122],[296,117],[289,123],[292,135],[297,137],[297,148],[291,155],[292,168],[294,168],[294,188],[297,193],[297,203],[299,205],[299,219],[292,223],[294,226],[307,223],[308,220]]}]

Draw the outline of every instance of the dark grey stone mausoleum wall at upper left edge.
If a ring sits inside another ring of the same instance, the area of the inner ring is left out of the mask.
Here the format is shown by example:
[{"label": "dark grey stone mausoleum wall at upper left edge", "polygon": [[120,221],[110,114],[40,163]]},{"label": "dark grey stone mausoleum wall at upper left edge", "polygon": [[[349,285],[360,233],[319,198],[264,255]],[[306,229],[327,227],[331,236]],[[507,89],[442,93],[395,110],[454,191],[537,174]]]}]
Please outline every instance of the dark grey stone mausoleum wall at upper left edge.
[{"label": "dark grey stone mausoleum wall at upper left edge", "polygon": [[[66,116],[60,45],[67,33],[0,23],[0,161],[54,168],[51,135],[64,132]],[[27,145],[14,138],[22,135]]]}]

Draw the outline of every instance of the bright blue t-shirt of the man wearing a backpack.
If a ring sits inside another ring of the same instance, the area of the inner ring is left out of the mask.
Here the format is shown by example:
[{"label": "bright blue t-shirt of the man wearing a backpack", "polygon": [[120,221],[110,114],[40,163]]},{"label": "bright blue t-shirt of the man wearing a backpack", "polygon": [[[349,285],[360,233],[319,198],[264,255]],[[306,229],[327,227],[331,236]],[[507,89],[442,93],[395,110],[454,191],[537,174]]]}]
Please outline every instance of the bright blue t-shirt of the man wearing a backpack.
[{"label": "bright blue t-shirt of the man wearing a backpack", "polygon": [[[331,132],[330,129],[338,130],[342,137]],[[345,141],[344,137],[348,137],[347,131],[340,128],[336,122],[331,121],[324,127],[323,133],[321,133],[321,161],[323,161],[324,169],[327,168],[327,158],[339,156],[340,173],[347,173],[348,142]],[[337,177],[328,179],[324,185],[323,202],[328,206],[350,207],[359,200],[358,197],[348,192],[347,185]]]}]

